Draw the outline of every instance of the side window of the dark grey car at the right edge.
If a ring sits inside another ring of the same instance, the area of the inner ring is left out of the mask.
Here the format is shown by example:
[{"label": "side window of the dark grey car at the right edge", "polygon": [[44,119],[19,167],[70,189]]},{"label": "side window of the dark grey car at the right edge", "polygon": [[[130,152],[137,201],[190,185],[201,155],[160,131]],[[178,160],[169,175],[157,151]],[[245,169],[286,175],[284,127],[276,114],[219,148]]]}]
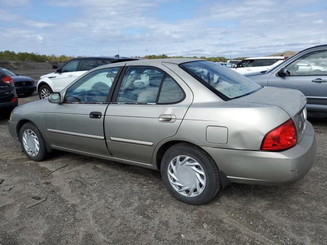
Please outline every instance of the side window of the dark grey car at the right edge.
[{"label": "side window of the dark grey car at the right edge", "polygon": [[304,55],[286,68],[290,76],[327,75],[327,51]]}]

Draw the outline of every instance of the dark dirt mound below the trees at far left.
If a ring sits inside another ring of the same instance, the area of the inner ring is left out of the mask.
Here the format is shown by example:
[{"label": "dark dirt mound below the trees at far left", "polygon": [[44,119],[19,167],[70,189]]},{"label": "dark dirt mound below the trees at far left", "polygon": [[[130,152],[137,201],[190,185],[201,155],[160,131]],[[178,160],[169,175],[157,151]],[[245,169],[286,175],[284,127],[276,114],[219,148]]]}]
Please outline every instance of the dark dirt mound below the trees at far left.
[{"label": "dark dirt mound below the trees at far left", "polygon": [[35,61],[0,61],[0,67],[7,69],[53,69],[54,66],[60,67],[62,62],[35,62]]}]

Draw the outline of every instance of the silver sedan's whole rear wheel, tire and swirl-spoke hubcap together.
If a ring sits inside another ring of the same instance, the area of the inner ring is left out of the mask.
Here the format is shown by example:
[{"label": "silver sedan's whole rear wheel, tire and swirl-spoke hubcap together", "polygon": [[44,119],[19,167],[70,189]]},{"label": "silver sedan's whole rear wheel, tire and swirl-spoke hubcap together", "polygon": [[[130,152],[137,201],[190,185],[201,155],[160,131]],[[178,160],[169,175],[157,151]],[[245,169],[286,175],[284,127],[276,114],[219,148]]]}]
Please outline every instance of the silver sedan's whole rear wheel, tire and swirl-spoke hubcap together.
[{"label": "silver sedan's whole rear wheel, tire and swirl-spoke hubcap together", "polygon": [[169,148],[162,157],[160,169],[167,189],[184,203],[205,204],[221,187],[214,160],[192,144],[179,143]]}]

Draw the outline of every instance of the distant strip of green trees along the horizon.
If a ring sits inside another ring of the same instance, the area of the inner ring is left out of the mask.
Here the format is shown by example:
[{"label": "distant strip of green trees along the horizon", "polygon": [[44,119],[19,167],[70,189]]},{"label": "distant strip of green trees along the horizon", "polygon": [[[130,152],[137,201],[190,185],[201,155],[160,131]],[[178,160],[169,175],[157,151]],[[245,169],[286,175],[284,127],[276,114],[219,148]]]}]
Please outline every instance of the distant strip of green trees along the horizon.
[{"label": "distant strip of green trees along the horizon", "polygon": [[[139,57],[138,58],[146,58],[146,59],[164,59],[164,58],[200,58],[200,59],[206,59],[209,61],[214,61],[214,62],[227,62],[228,58],[226,57],[197,57],[197,56],[192,56],[192,57],[185,57],[185,56],[167,56],[167,55],[146,55],[144,57]],[[64,62],[70,59],[73,59],[75,57],[73,56],[66,56],[66,55],[39,55],[35,53],[28,53],[28,52],[19,52],[15,53],[14,51],[0,51],[0,61],[9,61],[9,60],[21,60],[21,61],[36,61],[36,62],[54,62],[54,61],[59,61],[59,62]],[[239,58],[233,58],[233,60],[243,60],[246,57],[239,57]]]}]

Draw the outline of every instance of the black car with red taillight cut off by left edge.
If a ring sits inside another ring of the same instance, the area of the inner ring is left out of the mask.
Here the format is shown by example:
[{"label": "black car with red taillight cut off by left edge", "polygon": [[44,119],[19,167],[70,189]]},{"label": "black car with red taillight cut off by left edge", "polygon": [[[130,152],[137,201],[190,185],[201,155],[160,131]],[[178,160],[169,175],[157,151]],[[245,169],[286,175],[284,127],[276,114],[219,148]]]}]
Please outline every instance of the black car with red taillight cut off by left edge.
[{"label": "black car with red taillight cut off by left edge", "polygon": [[0,68],[0,116],[9,116],[16,106],[18,99],[12,78]]}]

